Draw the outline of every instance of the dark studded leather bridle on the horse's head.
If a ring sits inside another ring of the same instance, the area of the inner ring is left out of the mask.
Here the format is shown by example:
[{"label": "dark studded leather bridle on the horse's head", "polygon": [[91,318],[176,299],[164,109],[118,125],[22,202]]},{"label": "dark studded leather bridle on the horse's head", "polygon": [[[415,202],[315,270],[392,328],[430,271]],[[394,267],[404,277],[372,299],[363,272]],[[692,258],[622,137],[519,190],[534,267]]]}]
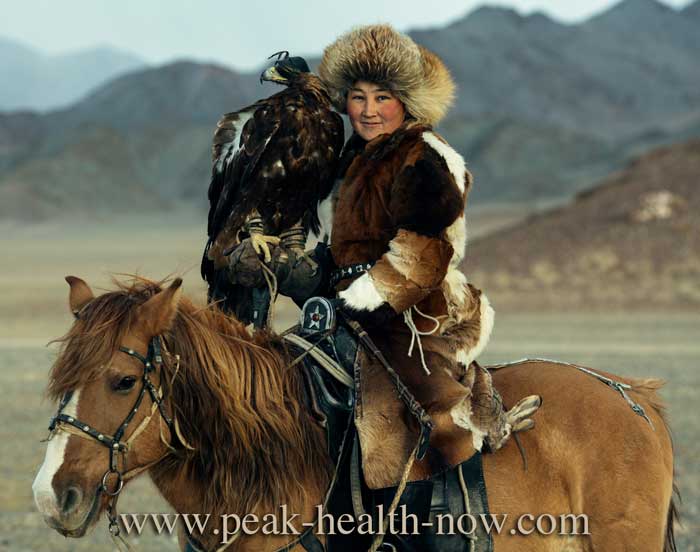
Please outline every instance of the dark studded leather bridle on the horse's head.
[{"label": "dark studded leather bridle on the horse's head", "polygon": [[[155,385],[153,385],[153,382],[149,377],[150,374],[155,372],[156,368],[160,369],[160,367],[163,364],[162,348],[163,345],[160,336],[155,336],[151,339],[151,341],[148,344],[148,353],[146,357],[134,351],[133,349],[123,346],[119,347],[119,351],[121,351],[122,353],[126,353],[131,357],[134,357],[143,364],[143,376],[141,377],[141,391],[139,392],[139,395],[136,398],[133,407],[131,408],[121,425],[117,428],[117,431],[115,431],[114,435],[109,435],[104,432],[101,432],[98,429],[92,427],[90,424],[87,424],[77,419],[75,416],[70,416],[68,414],[63,413],[63,409],[70,402],[73,396],[73,391],[68,391],[63,396],[58,405],[58,412],[55,416],[51,418],[51,421],[49,423],[49,431],[51,432],[51,435],[53,435],[56,431],[63,430],[73,435],[83,437],[85,439],[94,439],[95,441],[109,449],[109,467],[102,476],[100,486],[98,487],[98,492],[103,492],[110,497],[109,504],[107,506],[107,517],[109,519],[109,532],[113,537],[119,537],[120,533],[119,525],[117,523],[116,506],[119,493],[121,493],[122,488],[124,487],[124,482],[135,477],[139,473],[142,473],[147,469],[151,468],[152,466],[160,462],[163,458],[165,458],[165,456],[171,454],[175,449],[170,443],[167,443],[163,438],[161,427],[161,439],[168,447],[167,452],[163,456],[145,466],[140,466],[138,468],[134,468],[132,470],[124,472],[122,472],[119,468],[119,457],[121,456],[122,460],[122,470],[126,470],[126,456],[129,452],[129,448],[131,444],[136,440],[136,438],[146,429],[156,410],[160,412],[161,418],[163,419],[163,421],[165,421],[165,424],[168,426],[168,429],[170,430],[171,439],[175,435],[177,435],[178,437],[180,435],[180,432],[178,431],[177,427],[177,422],[174,421],[174,418],[168,416],[168,413],[165,410],[162,374],[161,382],[158,389],[156,389]],[[175,358],[177,359],[177,366],[175,367],[176,374],[177,369],[179,368],[180,359],[179,356],[176,356]],[[153,401],[151,412],[141,421],[141,423],[134,430],[131,436],[124,441],[122,439],[124,437],[124,434],[126,433],[126,429],[129,426],[129,424],[133,421],[134,416],[136,416],[136,413],[141,407],[141,403],[143,402],[143,398],[146,395],[146,392],[148,392]],[[184,444],[186,447],[191,448],[186,443]],[[112,488],[112,490],[110,490],[109,479],[112,476],[115,477],[115,481],[114,487]]]}]

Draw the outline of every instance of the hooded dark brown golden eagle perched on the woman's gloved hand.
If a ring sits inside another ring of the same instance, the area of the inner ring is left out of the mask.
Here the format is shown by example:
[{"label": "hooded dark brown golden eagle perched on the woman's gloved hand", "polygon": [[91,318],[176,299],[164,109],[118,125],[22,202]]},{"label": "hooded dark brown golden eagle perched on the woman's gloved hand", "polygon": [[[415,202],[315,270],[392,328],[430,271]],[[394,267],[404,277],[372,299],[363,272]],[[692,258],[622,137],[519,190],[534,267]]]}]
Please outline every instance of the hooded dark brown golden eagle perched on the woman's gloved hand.
[{"label": "hooded dark brown golden eagle perched on the woman's gloved hand", "polygon": [[260,82],[285,89],[217,124],[202,258],[209,300],[256,326],[265,323],[267,288],[232,284],[228,254],[247,237],[265,262],[268,243],[303,248],[308,232],[319,231],[317,206],[331,192],[344,141],[343,120],[306,61],[288,52],[274,56]]}]

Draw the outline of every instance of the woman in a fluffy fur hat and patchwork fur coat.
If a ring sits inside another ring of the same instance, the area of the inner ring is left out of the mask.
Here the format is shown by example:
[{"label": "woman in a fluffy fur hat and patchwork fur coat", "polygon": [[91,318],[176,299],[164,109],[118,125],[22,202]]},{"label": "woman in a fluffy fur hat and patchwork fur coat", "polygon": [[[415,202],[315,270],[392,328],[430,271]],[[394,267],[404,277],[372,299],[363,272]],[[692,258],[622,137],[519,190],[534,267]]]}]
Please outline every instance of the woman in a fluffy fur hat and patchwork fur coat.
[{"label": "woman in a fluffy fur hat and patchwork fur coat", "polygon": [[[448,70],[409,37],[371,25],[327,47],[319,75],[354,130],[336,189],[320,208],[338,267],[330,292],[436,422],[432,447],[411,472],[425,478],[471,456],[472,445],[481,450],[486,441],[495,450],[512,430],[531,427],[527,416],[539,398],[504,412],[488,372],[473,363],[488,342],[493,309],[459,270],[471,175],[432,130],[453,99]],[[291,261],[275,267],[282,293],[301,302],[328,290],[320,273],[313,277],[313,262],[281,258]],[[361,375],[363,471],[370,487],[387,487],[400,479],[416,430],[372,357],[365,355]]]}]

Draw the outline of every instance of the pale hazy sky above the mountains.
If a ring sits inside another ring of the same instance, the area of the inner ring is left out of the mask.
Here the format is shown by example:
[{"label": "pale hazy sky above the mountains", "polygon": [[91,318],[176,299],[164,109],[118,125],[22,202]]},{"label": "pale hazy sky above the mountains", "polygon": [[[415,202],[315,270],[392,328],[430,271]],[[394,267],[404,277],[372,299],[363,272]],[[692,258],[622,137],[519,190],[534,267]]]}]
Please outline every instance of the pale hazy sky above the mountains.
[{"label": "pale hazy sky above the mountains", "polygon": [[[638,0],[644,1],[644,0]],[[400,30],[444,25],[484,4],[479,0],[0,0],[0,37],[59,54],[96,45],[133,52],[148,62],[214,60],[240,69],[277,50],[320,53],[359,24]],[[611,0],[500,0],[523,14],[541,10],[578,22]],[[676,8],[689,0],[663,0]]]}]

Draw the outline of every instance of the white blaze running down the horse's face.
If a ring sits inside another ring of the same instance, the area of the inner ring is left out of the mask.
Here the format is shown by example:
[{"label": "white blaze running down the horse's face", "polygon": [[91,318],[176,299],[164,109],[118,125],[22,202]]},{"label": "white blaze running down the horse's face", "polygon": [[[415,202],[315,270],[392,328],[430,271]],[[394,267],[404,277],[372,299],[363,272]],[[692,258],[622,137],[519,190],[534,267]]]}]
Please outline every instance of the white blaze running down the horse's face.
[{"label": "white blaze running down the horse's face", "polygon": [[[78,397],[80,391],[75,391],[71,400],[63,409],[64,414],[78,417]],[[34,491],[34,502],[36,507],[44,516],[59,517],[58,497],[53,488],[53,478],[56,472],[63,465],[66,455],[66,446],[68,445],[69,433],[59,431],[51,438],[46,446],[46,456],[44,463],[41,465],[39,473],[34,478],[32,483],[32,491]]]}]

